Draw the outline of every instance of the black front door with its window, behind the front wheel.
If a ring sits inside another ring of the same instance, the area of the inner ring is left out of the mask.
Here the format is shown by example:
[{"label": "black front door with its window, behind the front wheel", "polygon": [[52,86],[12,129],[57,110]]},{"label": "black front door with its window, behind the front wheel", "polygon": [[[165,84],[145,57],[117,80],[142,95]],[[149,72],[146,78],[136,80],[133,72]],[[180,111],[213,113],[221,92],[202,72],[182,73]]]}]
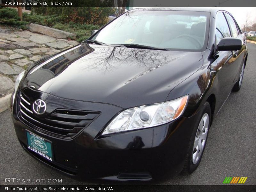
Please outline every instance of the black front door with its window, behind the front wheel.
[{"label": "black front door with its window, behind the front wheel", "polygon": [[[231,31],[224,12],[218,12],[216,15],[215,28],[215,47],[224,37],[231,37]],[[220,106],[225,102],[229,93],[233,88],[233,77],[235,75],[235,53],[232,51],[215,51],[214,57],[217,61],[217,68],[219,76],[219,100]]]}]

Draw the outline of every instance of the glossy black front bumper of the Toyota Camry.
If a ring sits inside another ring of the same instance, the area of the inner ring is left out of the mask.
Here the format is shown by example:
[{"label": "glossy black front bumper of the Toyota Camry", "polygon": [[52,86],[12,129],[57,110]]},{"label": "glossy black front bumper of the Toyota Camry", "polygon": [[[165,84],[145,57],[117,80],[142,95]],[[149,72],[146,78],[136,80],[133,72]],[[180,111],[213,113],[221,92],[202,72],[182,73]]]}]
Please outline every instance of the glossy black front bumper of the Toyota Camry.
[{"label": "glossy black front bumper of the Toyota Camry", "polygon": [[[54,98],[48,96],[50,100]],[[62,99],[59,100],[61,102]],[[69,106],[79,108],[99,106],[98,103],[69,102],[73,103]],[[102,137],[99,132],[108,123],[109,116],[114,116],[120,108],[108,108],[107,104],[100,106],[100,116],[73,139],[54,137],[24,124],[15,107],[12,113],[15,132],[28,153],[78,180],[158,181],[175,176],[182,170],[197,114],[157,127]],[[52,141],[53,162],[27,149],[25,130]]]}]

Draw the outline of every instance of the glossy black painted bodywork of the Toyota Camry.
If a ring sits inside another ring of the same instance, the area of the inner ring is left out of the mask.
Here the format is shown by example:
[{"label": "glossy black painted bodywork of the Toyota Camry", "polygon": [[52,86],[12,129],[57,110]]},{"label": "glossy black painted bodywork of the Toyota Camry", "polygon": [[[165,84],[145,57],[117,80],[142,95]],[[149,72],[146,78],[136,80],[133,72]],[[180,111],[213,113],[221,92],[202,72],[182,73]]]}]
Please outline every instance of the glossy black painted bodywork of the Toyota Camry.
[{"label": "glossy black painted bodywork of the Toyota Camry", "polygon": [[[86,109],[100,111],[101,114],[75,138],[65,139],[22,123],[17,116],[17,105],[14,105],[13,122],[22,146],[26,149],[26,129],[52,141],[53,163],[31,152],[29,154],[79,180],[157,181],[177,175],[183,168],[192,133],[191,125],[200,118],[198,111],[201,105],[209,101],[212,116],[216,116],[238,81],[242,63],[247,58],[246,44],[238,53],[216,51],[214,35],[218,11],[211,10],[208,46],[203,52],[154,51],[82,43],[78,46],[86,51],[82,53],[77,48],[79,51],[73,57],[70,55],[68,58],[71,59],[56,74],[42,76],[40,81],[38,75],[42,74],[42,68],[37,70],[38,73],[34,72],[34,77],[33,73],[29,74],[45,60],[28,68],[20,90],[30,92],[31,100],[41,98],[47,104],[50,103],[45,116],[56,108]],[[245,37],[241,34],[238,38],[244,40]],[[106,51],[105,56],[93,55],[93,52],[101,51]],[[125,63],[126,60],[120,63],[119,58],[113,58],[123,52],[132,63]],[[141,55],[161,54],[162,57],[157,63],[144,63],[141,57],[134,61],[135,52]],[[91,61],[86,63],[87,60],[83,59],[89,57]],[[97,63],[99,60],[102,63]],[[94,67],[100,68],[73,71],[78,69],[78,64],[83,67],[99,64]],[[130,65],[132,69],[125,65]],[[77,76],[81,72],[92,75],[81,78]],[[74,94],[77,90],[82,94]],[[187,108],[183,116],[173,122],[108,136],[100,134],[124,108],[173,100],[185,94],[189,95]],[[17,96],[14,103],[16,100]],[[120,172],[148,172],[151,178],[120,179],[117,177]]]}]

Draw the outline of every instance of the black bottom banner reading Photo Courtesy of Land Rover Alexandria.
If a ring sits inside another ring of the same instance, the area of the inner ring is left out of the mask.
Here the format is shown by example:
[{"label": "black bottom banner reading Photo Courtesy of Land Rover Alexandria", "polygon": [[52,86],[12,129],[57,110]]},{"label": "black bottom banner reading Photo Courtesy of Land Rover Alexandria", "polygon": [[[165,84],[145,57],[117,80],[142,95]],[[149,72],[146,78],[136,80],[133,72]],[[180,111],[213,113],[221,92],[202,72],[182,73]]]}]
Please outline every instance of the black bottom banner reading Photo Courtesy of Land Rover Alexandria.
[{"label": "black bottom banner reading Photo Courtesy of Land Rover Alexandria", "polygon": [[35,192],[35,191],[40,191],[40,192],[54,192],[54,191],[70,191],[70,192],[76,192],[76,191],[97,191],[97,192],[132,192],[132,191],[145,191],[145,192],[151,192],[151,191],[156,191],[156,192],[170,192],[170,191],[184,191],[184,192],[220,192],[220,191],[225,191],[225,192],[244,192],[244,191],[250,191],[254,192],[256,191],[256,187],[252,185],[230,185],[230,186],[222,186],[222,185],[212,185],[212,186],[206,186],[206,185],[199,185],[199,186],[189,186],[189,185],[184,185],[184,186],[179,186],[179,185],[130,185],[130,186],[125,186],[125,185],[91,185],[91,186],[61,186],[61,185],[55,185],[55,186],[29,186],[29,185],[12,185],[12,186],[0,186],[0,192],[7,192],[7,191],[12,191],[12,192],[25,192],[25,191],[30,191],[30,192]]}]

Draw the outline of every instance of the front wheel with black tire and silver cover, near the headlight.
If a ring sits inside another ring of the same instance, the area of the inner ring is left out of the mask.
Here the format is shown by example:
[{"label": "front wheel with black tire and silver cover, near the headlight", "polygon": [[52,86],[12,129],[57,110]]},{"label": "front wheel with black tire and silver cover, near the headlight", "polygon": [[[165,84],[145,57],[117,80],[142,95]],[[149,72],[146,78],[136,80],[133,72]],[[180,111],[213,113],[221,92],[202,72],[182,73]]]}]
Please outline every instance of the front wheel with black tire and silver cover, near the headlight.
[{"label": "front wheel with black tire and silver cover, near the headlight", "polygon": [[[194,129],[193,129],[190,141],[189,141],[186,161],[185,161],[183,170],[181,171],[181,173],[183,175],[190,174],[190,173],[192,173],[196,170],[196,168],[198,167],[198,165],[199,165],[199,163],[202,159],[204,149],[205,149],[205,145],[206,145],[206,141],[207,141],[207,138],[208,138],[208,132],[209,132],[210,122],[211,122],[211,107],[210,107],[210,104],[208,102],[205,102],[203,108],[200,111],[201,112],[200,112],[199,118],[197,119],[197,123],[194,126]],[[208,119],[208,121],[207,120],[204,121],[205,117],[206,117],[206,119]],[[200,131],[202,121],[203,121],[204,125],[203,125],[202,131]],[[199,127],[199,125],[200,125],[200,127]],[[206,128],[207,128],[207,130],[206,130]],[[204,131],[205,131],[206,135],[204,135]],[[202,140],[202,138],[205,138],[205,140]],[[197,140],[198,145],[197,145],[197,147],[194,148],[194,145],[196,145],[196,139],[198,139]],[[199,144],[200,144],[199,142],[201,142],[201,144],[202,144],[201,149],[199,147]]]}]

